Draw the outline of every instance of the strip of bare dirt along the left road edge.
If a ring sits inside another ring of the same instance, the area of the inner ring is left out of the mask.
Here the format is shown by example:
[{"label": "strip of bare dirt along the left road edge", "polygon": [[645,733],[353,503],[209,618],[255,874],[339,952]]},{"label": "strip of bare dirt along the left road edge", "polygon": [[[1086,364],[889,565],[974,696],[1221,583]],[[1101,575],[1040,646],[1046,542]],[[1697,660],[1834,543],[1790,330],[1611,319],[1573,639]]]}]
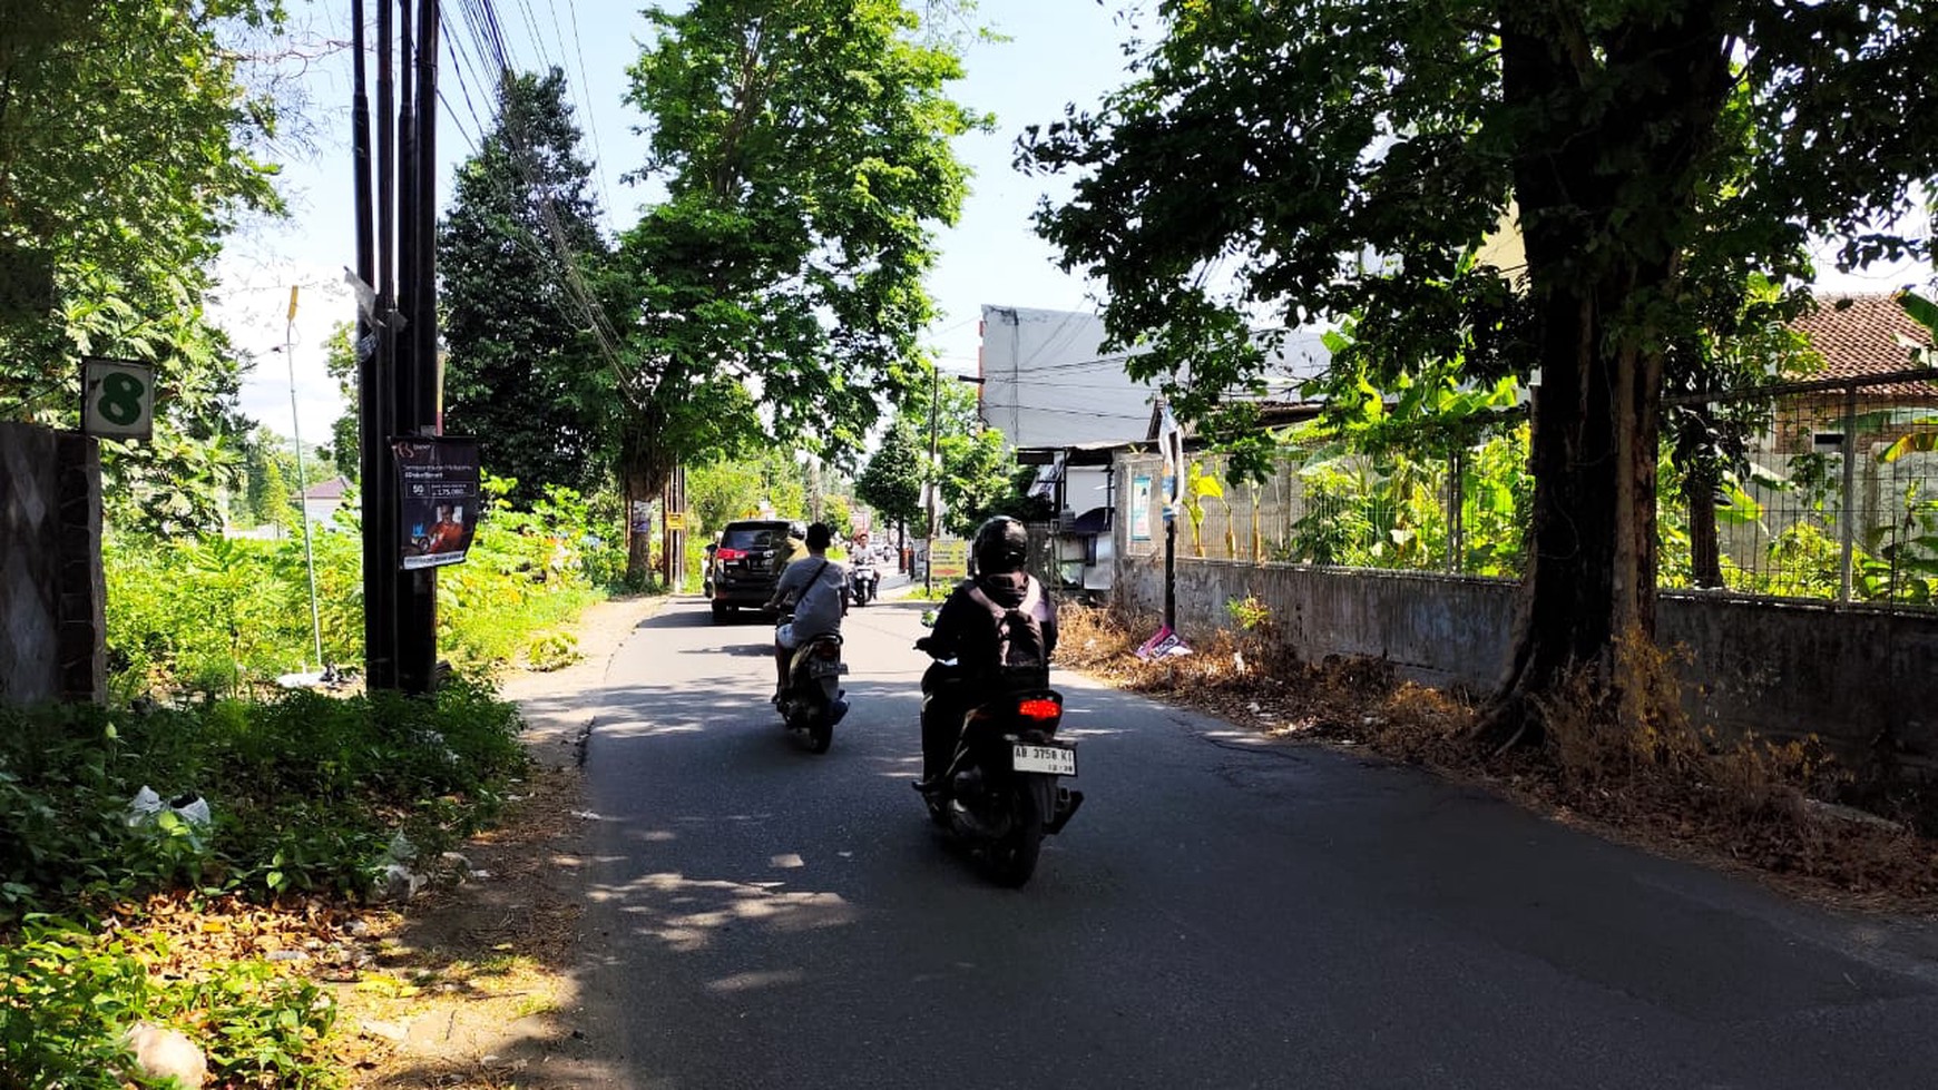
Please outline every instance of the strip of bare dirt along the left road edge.
[{"label": "strip of bare dirt along the left road edge", "polygon": [[444,881],[362,920],[368,964],[337,985],[343,1063],[360,1090],[578,1090],[616,1082],[616,1042],[579,1001],[585,831],[579,763],[593,726],[576,693],[665,598],[587,610],[579,660],[516,670],[500,695],[525,714],[533,776],[504,825],[471,840]]}]

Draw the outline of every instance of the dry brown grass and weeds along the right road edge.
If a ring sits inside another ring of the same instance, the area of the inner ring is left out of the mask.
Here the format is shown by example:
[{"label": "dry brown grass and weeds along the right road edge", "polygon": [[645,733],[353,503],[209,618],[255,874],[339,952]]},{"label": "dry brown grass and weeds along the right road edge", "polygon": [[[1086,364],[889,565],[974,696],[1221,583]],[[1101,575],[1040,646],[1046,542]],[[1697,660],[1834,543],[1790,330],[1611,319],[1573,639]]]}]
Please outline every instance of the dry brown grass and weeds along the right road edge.
[{"label": "dry brown grass and weeds along the right road edge", "polygon": [[[1756,871],[1793,894],[1938,912],[1938,842],[1837,805],[1878,792],[1814,742],[1723,742],[1680,714],[1597,705],[1583,680],[1541,709],[1541,745],[1492,753],[1475,742],[1475,709],[1457,693],[1399,681],[1384,662],[1300,662],[1273,639],[1269,618],[1254,620],[1188,656],[1145,662],[1134,656],[1136,633],[1155,620],[1068,608],[1058,664],[1266,734],[1364,745],[1647,850]],[[1674,709],[1669,658],[1653,647],[1624,652],[1649,680],[1645,707]],[[1903,792],[1897,803],[1928,809]]]}]

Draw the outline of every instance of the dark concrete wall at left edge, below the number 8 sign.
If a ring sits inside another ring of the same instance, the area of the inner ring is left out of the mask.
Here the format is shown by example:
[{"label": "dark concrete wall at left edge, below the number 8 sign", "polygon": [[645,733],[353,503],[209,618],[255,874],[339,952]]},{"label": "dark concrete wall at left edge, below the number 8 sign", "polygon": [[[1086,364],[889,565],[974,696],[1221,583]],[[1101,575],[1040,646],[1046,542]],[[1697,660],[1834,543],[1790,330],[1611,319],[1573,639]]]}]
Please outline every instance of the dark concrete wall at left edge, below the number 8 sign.
[{"label": "dark concrete wall at left edge, below the number 8 sign", "polygon": [[105,699],[105,600],[97,443],[0,422],[0,701]]}]

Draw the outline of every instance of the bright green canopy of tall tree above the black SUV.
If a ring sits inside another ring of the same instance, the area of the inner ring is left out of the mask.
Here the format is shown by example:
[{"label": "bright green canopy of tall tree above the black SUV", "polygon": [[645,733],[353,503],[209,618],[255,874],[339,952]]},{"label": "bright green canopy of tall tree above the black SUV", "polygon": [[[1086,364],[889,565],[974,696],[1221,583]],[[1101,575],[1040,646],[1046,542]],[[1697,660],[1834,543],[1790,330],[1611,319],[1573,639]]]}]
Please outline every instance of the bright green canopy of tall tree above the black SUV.
[{"label": "bright green canopy of tall tree above the black SUV", "polygon": [[779,439],[853,463],[932,316],[934,228],[961,207],[950,141],[983,124],[952,48],[901,0],[649,8],[628,101],[663,188],[620,242],[620,476]]}]

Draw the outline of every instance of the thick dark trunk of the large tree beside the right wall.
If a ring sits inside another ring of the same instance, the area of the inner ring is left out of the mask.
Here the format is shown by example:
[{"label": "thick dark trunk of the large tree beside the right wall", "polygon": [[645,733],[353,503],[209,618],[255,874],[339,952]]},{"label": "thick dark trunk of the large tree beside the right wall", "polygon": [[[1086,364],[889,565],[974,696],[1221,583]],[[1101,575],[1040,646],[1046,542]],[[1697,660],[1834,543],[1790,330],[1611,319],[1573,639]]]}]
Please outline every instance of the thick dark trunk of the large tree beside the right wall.
[{"label": "thick dark trunk of the large tree beside the right wall", "polygon": [[[1647,712],[1647,656],[1632,652],[1655,633],[1653,308],[1672,306],[1692,165],[1729,85],[1711,2],[1609,33],[1599,48],[1556,8],[1506,8],[1502,89],[1541,118],[1514,159],[1541,385],[1519,627],[1483,716],[1483,740],[1502,745],[1539,740],[1545,709],[1578,695],[1624,722]],[[1622,91],[1603,103],[1591,83]],[[1570,689],[1578,678],[1585,691]]]}]

